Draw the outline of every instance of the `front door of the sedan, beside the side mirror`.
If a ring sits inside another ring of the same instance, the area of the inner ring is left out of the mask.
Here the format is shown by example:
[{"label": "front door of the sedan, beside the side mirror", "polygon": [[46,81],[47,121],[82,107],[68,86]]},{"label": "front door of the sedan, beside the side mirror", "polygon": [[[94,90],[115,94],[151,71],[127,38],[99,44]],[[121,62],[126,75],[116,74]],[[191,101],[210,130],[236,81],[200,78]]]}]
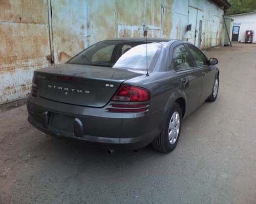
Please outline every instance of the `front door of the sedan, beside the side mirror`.
[{"label": "front door of the sedan, beside the side mirror", "polygon": [[202,104],[212,92],[212,87],[215,81],[215,66],[209,64],[208,59],[196,46],[186,44],[189,53],[194,59],[194,63],[197,69],[201,70],[202,73],[202,93],[200,96],[199,104]]}]

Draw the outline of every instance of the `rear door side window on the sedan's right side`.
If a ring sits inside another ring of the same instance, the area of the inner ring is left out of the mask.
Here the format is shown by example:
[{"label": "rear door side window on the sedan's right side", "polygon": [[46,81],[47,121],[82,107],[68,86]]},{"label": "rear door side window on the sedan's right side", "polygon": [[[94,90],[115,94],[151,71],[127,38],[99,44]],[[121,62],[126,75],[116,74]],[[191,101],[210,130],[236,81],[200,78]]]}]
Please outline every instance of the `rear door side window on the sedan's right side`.
[{"label": "rear door side window on the sedan's right side", "polygon": [[184,70],[194,67],[193,62],[190,60],[189,54],[184,45],[179,45],[174,49],[172,66],[175,70]]}]

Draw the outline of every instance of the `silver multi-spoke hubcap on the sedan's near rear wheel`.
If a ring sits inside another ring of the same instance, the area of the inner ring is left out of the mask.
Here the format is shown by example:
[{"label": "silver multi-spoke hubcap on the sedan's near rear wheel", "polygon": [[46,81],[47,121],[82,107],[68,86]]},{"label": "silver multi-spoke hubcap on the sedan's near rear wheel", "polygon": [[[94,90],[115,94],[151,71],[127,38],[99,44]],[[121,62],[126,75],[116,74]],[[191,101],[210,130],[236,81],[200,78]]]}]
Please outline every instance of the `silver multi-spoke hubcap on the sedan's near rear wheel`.
[{"label": "silver multi-spoke hubcap on the sedan's near rear wheel", "polygon": [[168,138],[170,144],[174,144],[177,141],[180,132],[180,114],[175,111],[170,118]]}]

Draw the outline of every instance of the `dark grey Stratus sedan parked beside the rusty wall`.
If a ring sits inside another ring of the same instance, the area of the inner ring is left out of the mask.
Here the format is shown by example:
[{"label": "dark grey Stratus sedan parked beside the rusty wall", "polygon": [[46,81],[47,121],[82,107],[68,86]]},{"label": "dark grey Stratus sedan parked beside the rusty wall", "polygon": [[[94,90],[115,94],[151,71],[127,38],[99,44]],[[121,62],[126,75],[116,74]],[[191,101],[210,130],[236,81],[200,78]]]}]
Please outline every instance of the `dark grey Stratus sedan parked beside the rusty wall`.
[{"label": "dark grey Stratus sedan parked beside the rusty wall", "polygon": [[116,147],[172,151],[182,120],[216,100],[218,60],[181,40],[115,38],[34,72],[29,122],[40,131]]}]

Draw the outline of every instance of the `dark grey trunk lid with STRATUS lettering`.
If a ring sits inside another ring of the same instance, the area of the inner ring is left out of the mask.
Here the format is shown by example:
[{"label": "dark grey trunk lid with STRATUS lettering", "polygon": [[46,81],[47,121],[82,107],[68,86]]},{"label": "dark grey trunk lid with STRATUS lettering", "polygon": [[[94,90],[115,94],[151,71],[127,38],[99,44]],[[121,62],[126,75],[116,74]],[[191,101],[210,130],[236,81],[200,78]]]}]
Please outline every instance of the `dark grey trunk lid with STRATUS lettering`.
[{"label": "dark grey trunk lid with STRATUS lettering", "polygon": [[36,70],[35,75],[40,97],[73,105],[103,107],[122,82],[142,74],[111,67],[62,64]]}]

